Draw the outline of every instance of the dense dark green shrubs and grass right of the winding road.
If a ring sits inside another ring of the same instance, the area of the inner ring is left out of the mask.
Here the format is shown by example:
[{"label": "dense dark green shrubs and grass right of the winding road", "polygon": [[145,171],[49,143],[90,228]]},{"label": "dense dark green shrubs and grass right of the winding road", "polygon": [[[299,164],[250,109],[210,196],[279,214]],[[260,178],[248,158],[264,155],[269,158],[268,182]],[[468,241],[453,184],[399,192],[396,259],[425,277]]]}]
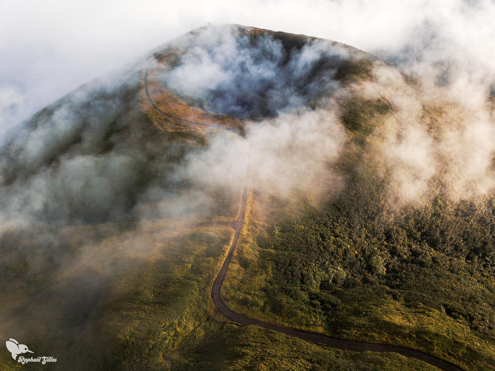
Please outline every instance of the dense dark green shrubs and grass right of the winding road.
[{"label": "dense dark green shrubs and grass right of the winding road", "polygon": [[389,111],[380,100],[344,105],[350,140],[336,168],[348,183],[328,202],[254,193],[223,287],[227,305],[495,370],[495,197],[453,202],[440,191],[422,206],[392,208],[369,129]]}]

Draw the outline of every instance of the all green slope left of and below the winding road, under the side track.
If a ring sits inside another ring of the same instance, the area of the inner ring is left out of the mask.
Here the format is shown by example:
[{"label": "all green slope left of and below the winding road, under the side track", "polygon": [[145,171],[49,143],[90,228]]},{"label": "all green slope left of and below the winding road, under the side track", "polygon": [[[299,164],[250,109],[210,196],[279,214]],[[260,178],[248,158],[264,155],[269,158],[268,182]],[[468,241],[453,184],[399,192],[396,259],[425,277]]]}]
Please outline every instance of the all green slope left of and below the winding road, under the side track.
[{"label": "all green slope left of and below the winding road, under the side track", "polygon": [[[109,265],[118,269],[99,294],[79,292],[83,308],[66,307],[69,282],[30,298],[21,314],[22,302],[8,304],[11,315],[28,319],[23,341],[36,354],[56,357],[52,370],[435,370],[396,354],[341,351],[221,322],[210,290],[232,236],[232,229],[217,227],[127,241],[106,255],[115,256]],[[19,367],[0,354],[2,370]]]}]

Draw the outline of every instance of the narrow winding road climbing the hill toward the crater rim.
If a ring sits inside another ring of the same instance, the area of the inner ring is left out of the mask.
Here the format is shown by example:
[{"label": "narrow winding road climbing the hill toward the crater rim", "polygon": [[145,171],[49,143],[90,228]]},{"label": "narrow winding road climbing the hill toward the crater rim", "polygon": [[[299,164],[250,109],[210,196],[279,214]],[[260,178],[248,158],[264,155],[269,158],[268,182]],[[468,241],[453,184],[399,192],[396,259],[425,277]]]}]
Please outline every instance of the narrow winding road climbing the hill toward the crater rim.
[{"label": "narrow winding road climbing the hill toward the crater rim", "polygon": [[[178,121],[181,123],[185,124],[190,124],[190,125],[198,125],[198,126],[206,126],[206,127],[212,127],[216,129],[221,129],[225,130],[228,132],[231,132],[238,137],[246,140],[244,136],[239,134],[237,131],[227,128],[221,125],[214,125],[214,124],[203,124],[203,123],[198,123],[194,121],[189,121],[189,120],[184,120],[180,117],[175,117],[172,116],[165,111],[161,110],[153,101],[151,96],[149,95],[149,90],[148,90],[148,74],[149,74],[149,66],[146,69],[145,73],[145,92],[146,92],[146,97],[148,98],[148,102],[151,105],[151,107],[164,117],[167,117],[171,120]],[[213,304],[215,305],[215,309],[220,313],[222,316],[225,318],[229,319],[230,321],[236,322],[241,325],[256,325],[260,326],[263,328],[267,328],[270,330],[282,332],[286,335],[289,336],[294,336],[302,340],[307,340],[311,341],[314,343],[318,344],[324,344],[328,345],[331,347],[335,348],[340,348],[340,349],[346,349],[346,350],[352,350],[352,351],[371,351],[371,352],[393,352],[393,353],[398,353],[406,357],[411,357],[418,359],[420,361],[426,362],[430,365],[436,366],[441,370],[445,371],[465,371],[464,369],[447,362],[439,357],[432,356],[431,354],[421,352],[419,350],[403,347],[400,345],[391,345],[391,344],[380,344],[380,343],[368,343],[364,341],[356,341],[356,340],[345,340],[345,339],[339,339],[337,337],[332,337],[332,336],[327,336],[323,334],[318,334],[314,332],[306,332],[306,331],[301,331],[301,330],[296,330],[296,329],[289,329],[289,328],[284,328],[280,327],[277,325],[272,325],[272,324],[267,324],[258,320],[254,320],[252,318],[240,315],[238,313],[232,312],[230,309],[228,309],[225,304],[222,301],[222,298],[220,296],[220,288],[222,287],[223,280],[225,278],[225,274],[227,273],[227,270],[229,268],[230,260],[232,258],[232,253],[234,252],[234,249],[237,245],[237,241],[239,239],[239,235],[241,234],[241,228],[243,226],[244,222],[244,214],[246,211],[246,195],[247,195],[247,184],[249,180],[249,143],[247,142],[247,148],[248,148],[248,156],[247,156],[247,167],[246,167],[246,173],[245,173],[245,178],[244,178],[244,185],[243,185],[243,194],[242,194],[242,199],[241,199],[241,210],[239,212],[239,217],[235,222],[231,222],[230,224],[223,224],[223,225],[228,225],[232,228],[234,228],[234,239],[232,240],[232,244],[230,245],[229,252],[227,254],[227,257],[225,258],[225,261],[222,264],[222,268],[220,269],[220,272],[217,274],[215,281],[213,282],[213,286],[211,288],[211,299],[213,300]],[[203,227],[203,225],[201,225]],[[204,225],[205,227],[206,225]],[[190,226],[188,228],[192,228],[193,226]],[[199,227],[199,226],[198,226]],[[155,232],[155,231],[152,231]],[[156,231],[159,232],[159,231]],[[140,235],[147,234],[149,232],[141,233]],[[138,235],[136,235],[138,236]],[[134,238],[136,236],[128,237],[128,238]]]}]

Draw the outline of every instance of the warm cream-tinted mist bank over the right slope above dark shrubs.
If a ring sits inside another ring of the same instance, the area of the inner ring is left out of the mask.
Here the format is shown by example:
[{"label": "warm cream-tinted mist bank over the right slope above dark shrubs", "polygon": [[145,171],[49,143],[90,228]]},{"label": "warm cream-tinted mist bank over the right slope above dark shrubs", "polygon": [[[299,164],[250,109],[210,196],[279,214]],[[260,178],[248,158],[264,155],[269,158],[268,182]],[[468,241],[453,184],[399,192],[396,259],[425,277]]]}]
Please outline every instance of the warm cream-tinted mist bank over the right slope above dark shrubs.
[{"label": "warm cream-tinted mist bank over the right slope above dark shrubs", "polygon": [[[373,137],[394,202],[418,205],[439,192],[452,201],[487,195],[495,185],[487,86],[455,77],[448,85],[419,76],[411,83],[413,75],[384,64],[373,73],[372,94],[379,93],[394,109]],[[479,99],[473,103],[475,92]]]}]

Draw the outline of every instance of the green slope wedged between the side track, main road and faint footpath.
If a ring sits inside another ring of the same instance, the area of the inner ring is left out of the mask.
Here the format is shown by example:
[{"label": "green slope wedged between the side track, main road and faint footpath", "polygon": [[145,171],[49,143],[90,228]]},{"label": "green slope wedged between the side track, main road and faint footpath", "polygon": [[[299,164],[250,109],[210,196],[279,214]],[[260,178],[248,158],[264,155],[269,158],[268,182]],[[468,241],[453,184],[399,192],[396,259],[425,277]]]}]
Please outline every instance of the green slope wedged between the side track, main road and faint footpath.
[{"label": "green slope wedged between the side track, main road and faint footpath", "polygon": [[[162,369],[161,355],[214,315],[211,285],[232,237],[227,227],[143,236],[107,254],[105,265],[99,259],[27,299],[29,307],[21,301],[1,308],[22,315],[29,328],[23,341],[39,355],[56,357],[56,369]],[[99,269],[111,276],[99,280],[98,289],[85,282],[91,291],[81,290],[78,282]],[[70,297],[74,291],[81,306]],[[12,364],[4,353],[2,369]]]}]

